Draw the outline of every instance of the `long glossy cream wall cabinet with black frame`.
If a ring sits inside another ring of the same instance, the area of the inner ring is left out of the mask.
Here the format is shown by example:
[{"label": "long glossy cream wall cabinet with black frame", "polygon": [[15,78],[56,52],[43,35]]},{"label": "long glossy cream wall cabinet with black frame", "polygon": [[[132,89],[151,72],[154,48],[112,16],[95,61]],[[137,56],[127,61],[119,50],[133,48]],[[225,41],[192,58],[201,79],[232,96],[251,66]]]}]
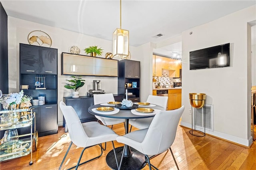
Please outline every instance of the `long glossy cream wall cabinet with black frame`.
[{"label": "long glossy cream wall cabinet with black frame", "polygon": [[62,52],[61,75],[118,77],[118,60]]}]

